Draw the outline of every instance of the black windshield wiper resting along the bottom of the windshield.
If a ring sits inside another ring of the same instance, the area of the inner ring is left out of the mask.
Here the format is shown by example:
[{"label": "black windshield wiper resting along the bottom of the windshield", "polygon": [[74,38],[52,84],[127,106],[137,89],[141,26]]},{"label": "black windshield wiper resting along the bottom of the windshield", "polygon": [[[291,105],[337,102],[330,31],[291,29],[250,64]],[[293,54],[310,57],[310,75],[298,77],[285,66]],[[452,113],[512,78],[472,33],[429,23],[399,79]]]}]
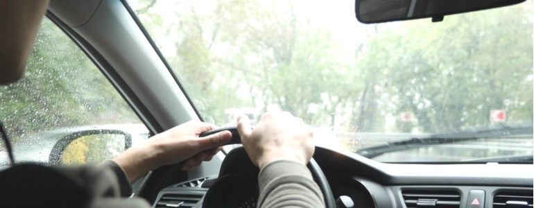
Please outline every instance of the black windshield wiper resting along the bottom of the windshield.
[{"label": "black windshield wiper resting along the bottom of the windshield", "polygon": [[356,154],[362,155],[363,157],[367,158],[373,158],[384,153],[391,153],[399,150],[407,150],[411,148],[418,148],[421,146],[429,146],[434,144],[452,144],[461,141],[471,141],[485,138],[524,138],[532,137],[532,135],[532,125],[517,127],[501,126],[498,128],[485,128],[472,131],[440,133],[425,137],[412,137],[411,139],[402,141],[391,141],[388,142],[388,144],[356,150]]}]

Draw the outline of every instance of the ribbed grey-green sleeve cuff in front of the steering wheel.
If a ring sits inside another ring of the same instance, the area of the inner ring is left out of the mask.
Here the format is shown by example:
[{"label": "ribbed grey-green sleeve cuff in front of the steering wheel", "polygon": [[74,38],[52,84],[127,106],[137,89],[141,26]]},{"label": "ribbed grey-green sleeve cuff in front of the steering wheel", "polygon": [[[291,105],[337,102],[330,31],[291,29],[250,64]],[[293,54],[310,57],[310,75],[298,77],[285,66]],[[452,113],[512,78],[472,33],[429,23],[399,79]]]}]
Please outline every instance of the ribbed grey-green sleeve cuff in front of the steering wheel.
[{"label": "ribbed grey-green sleeve cuff in front of the steering wheel", "polygon": [[298,162],[267,164],[259,172],[258,181],[258,207],[325,207],[311,173]]}]

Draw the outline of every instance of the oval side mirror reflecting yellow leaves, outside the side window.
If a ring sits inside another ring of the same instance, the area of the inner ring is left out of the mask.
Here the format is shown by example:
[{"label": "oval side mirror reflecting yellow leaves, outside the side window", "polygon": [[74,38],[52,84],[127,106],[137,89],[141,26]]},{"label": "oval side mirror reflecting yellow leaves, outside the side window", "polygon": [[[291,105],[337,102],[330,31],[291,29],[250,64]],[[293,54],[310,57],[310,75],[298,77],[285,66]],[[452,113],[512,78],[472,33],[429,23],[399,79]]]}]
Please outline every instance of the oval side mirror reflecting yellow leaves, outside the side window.
[{"label": "oval side mirror reflecting yellow leaves, outside the side window", "polygon": [[132,136],[121,130],[84,130],[60,139],[52,148],[51,164],[76,165],[112,159],[132,146]]}]

